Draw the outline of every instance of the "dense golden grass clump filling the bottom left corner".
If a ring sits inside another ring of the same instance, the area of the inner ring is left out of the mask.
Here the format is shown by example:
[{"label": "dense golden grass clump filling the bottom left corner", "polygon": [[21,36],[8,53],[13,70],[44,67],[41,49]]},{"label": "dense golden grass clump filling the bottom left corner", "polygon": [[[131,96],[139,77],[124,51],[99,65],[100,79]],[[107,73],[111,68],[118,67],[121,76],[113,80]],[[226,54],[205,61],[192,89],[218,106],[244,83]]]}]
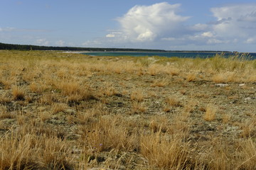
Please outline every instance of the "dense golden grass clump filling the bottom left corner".
[{"label": "dense golden grass clump filling the bottom left corner", "polygon": [[57,137],[12,134],[0,138],[0,169],[71,169],[70,150]]}]

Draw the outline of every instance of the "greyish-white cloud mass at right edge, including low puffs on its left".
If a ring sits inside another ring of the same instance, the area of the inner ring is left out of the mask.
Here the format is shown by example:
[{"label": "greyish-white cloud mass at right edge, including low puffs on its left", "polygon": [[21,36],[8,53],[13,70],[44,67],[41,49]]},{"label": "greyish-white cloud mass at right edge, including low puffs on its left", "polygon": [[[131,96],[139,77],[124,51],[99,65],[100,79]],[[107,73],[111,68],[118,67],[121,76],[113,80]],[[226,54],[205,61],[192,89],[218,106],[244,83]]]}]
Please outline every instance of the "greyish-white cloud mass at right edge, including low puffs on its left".
[{"label": "greyish-white cloud mass at right edge, including low puffs on its left", "polygon": [[191,26],[195,30],[192,35],[186,36],[194,44],[209,45],[256,42],[256,4],[232,4],[211,8],[216,21],[207,24],[198,23]]}]

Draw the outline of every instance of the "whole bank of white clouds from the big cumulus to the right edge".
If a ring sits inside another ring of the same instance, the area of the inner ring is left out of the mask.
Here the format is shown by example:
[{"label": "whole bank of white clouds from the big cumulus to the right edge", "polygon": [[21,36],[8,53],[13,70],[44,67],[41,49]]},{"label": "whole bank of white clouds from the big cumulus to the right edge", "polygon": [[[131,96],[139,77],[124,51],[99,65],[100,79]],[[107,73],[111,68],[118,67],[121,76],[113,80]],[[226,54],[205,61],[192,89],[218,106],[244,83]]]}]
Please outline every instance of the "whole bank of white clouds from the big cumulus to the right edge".
[{"label": "whole bank of white clouds from the big cumulus to the right edge", "polygon": [[[134,6],[124,16],[117,18],[118,33],[109,33],[112,42],[145,43],[152,46],[200,47],[213,50],[235,50],[234,45],[256,44],[256,4],[229,4],[210,8],[214,21],[186,22],[193,16],[179,14],[181,4],[167,2],[151,6]],[[226,49],[223,49],[225,45]],[[222,49],[220,49],[222,47]]]}]

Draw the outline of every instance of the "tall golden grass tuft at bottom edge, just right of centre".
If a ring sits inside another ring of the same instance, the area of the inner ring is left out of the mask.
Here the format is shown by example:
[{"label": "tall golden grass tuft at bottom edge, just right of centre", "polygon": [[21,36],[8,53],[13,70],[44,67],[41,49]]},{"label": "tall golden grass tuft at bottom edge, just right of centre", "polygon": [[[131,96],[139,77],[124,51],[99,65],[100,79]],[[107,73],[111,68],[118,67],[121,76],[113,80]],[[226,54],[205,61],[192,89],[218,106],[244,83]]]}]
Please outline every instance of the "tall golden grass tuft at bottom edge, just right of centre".
[{"label": "tall golden grass tuft at bottom edge, just right of centre", "polygon": [[156,133],[143,135],[140,143],[141,154],[152,166],[161,169],[193,168],[193,163],[188,157],[188,142],[182,142],[180,137],[161,135],[161,130],[159,130]]}]

